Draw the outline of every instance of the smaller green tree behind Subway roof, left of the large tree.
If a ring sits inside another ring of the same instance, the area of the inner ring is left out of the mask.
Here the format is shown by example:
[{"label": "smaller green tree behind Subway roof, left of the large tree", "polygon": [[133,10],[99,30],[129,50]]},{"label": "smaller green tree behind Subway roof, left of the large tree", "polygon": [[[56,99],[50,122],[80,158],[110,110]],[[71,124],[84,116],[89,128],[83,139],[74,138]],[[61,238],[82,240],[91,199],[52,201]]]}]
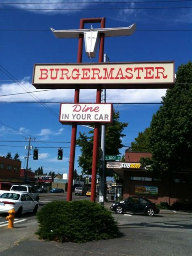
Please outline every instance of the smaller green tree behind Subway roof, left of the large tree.
[{"label": "smaller green tree behind Subway roof, left of the large tree", "polygon": [[145,151],[151,152],[151,146],[149,142],[149,137],[151,135],[151,128],[146,128],[144,132],[139,132],[137,138],[135,138],[133,142],[131,142],[131,150],[132,151]]}]

